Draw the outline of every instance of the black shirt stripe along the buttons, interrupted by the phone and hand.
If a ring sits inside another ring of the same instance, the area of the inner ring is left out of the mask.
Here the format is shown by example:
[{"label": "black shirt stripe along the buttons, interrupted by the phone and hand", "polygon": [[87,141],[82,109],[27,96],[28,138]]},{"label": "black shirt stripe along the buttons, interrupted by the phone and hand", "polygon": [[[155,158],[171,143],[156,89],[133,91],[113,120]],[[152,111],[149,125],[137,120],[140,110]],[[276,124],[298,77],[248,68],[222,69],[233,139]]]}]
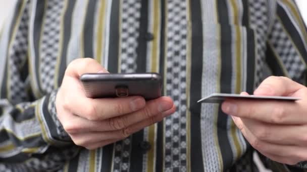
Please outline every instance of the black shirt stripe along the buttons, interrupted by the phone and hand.
[{"label": "black shirt stripe along the buttons, interrupted by the phone and hand", "polygon": [[[141,1],[140,9],[140,27],[138,37],[137,52],[137,68],[136,72],[146,72],[146,33],[148,27],[148,0]],[[132,149],[130,157],[130,171],[141,171],[143,161],[143,153],[140,149],[140,143],[143,141],[144,131],[140,130],[132,135]]]}]

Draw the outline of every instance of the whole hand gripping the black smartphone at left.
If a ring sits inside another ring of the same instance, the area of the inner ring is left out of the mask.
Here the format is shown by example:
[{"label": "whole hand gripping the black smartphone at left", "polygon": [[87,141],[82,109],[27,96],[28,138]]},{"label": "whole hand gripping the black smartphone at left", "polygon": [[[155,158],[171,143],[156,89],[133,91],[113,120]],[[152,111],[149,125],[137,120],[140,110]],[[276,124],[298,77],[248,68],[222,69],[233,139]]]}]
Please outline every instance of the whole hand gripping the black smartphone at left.
[{"label": "whole hand gripping the black smartphone at left", "polygon": [[72,61],[57,94],[60,122],[75,144],[95,149],[128,137],[175,112],[169,97],[147,101],[142,97],[91,99],[85,96],[79,77],[83,73],[108,72],[91,58]]}]

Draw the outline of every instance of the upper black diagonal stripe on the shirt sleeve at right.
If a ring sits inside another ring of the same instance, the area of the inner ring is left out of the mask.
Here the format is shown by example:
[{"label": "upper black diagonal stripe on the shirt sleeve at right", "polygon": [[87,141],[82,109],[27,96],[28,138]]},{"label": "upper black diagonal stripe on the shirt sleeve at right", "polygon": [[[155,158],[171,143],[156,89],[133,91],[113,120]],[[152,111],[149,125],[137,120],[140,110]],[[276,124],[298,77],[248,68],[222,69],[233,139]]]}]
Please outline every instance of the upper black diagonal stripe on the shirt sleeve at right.
[{"label": "upper black diagonal stripe on the shirt sleeve at right", "polygon": [[277,15],[281,19],[283,27],[287,30],[289,34],[291,34],[291,39],[294,42],[295,47],[301,54],[302,58],[307,62],[307,50],[304,47],[304,42],[303,40],[301,40],[298,30],[296,30],[296,28],[294,27],[286,11],[279,4],[277,5]]}]

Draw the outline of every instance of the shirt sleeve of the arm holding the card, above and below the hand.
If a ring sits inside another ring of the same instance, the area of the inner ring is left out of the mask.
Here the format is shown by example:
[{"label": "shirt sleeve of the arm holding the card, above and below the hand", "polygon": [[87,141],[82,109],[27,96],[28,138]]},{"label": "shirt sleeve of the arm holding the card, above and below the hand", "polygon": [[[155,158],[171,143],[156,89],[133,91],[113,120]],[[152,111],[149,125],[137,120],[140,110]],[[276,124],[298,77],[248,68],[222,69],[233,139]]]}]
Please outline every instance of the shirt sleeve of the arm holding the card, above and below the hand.
[{"label": "shirt sleeve of the arm holding the card, above and below the hand", "polygon": [[[278,0],[267,41],[266,60],[272,73],[306,85],[307,29],[294,1]],[[264,159],[264,158],[263,158]],[[266,159],[277,171],[307,168],[307,162],[290,166]]]}]

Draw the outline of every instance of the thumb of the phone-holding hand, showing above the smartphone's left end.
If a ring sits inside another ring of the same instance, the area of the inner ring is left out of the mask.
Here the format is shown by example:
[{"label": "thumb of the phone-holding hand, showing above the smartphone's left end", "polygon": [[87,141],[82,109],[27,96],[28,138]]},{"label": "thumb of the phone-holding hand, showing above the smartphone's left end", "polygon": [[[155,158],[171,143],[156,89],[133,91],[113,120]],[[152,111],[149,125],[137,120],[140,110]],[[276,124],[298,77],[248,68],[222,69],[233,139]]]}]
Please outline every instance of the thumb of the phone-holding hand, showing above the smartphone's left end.
[{"label": "thumb of the phone-holding hand, showing above the smartphone's left end", "polygon": [[92,58],[77,58],[67,66],[65,75],[79,78],[84,73],[109,73]]}]

